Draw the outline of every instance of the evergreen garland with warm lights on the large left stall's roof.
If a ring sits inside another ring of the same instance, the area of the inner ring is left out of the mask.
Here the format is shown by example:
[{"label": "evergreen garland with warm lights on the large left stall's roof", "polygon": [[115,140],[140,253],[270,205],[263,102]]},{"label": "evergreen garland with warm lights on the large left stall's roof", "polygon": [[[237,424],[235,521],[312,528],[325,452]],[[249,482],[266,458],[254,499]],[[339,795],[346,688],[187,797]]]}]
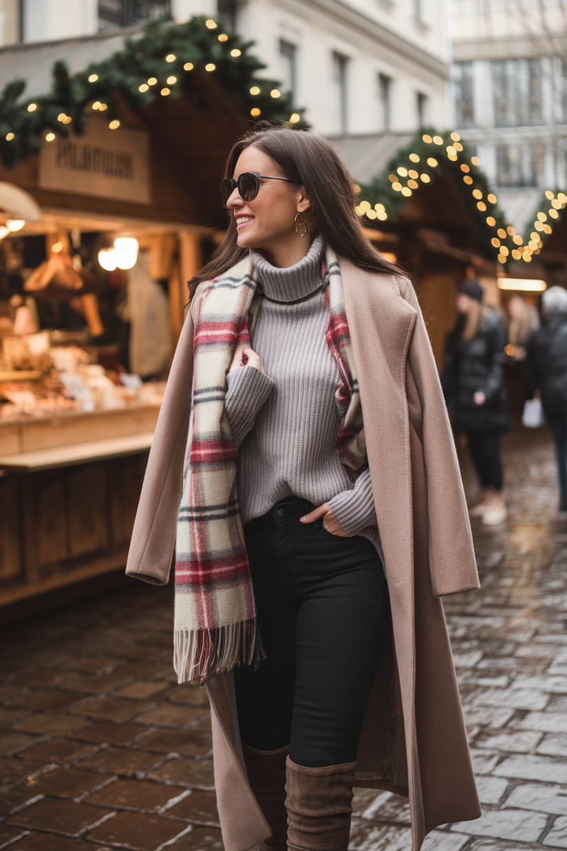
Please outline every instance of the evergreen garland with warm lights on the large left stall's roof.
[{"label": "evergreen garland with warm lights on the large left stall's roof", "polygon": [[[163,96],[163,89],[169,89],[169,97],[190,98],[195,89],[193,71],[201,68],[211,69],[243,115],[284,122],[293,116],[292,126],[304,127],[301,111],[293,114],[290,94],[276,94],[280,91],[277,81],[256,76],[265,66],[250,52],[251,47],[252,42],[243,42],[217,19],[204,15],[177,25],[154,21],[142,37],[125,39],[122,50],[77,74],[71,75],[65,62],[55,62],[48,94],[22,100],[26,82],[8,83],[0,96],[3,165],[14,168],[39,153],[49,132],[66,137],[72,127],[75,133],[83,133],[97,101],[103,105],[100,114],[111,123],[117,118],[117,95],[129,106],[149,106]],[[175,77],[176,82],[167,83],[167,77]],[[152,78],[156,83],[149,85]],[[258,89],[258,94],[251,94],[251,89]]]}]

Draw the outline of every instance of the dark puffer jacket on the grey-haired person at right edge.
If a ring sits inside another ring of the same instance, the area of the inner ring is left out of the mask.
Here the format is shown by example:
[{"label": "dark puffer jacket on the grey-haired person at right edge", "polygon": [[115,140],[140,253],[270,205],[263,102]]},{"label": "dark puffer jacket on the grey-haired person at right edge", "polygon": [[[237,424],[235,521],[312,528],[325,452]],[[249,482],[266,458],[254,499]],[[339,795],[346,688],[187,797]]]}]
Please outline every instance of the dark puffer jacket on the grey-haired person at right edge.
[{"label": "dark puffer jacket on the grey-haired person at right edge", "polygon": [[525,369],[530,391],[541,393],[545,413],[567,411],[567,313],[554,313],[532,335]]}]

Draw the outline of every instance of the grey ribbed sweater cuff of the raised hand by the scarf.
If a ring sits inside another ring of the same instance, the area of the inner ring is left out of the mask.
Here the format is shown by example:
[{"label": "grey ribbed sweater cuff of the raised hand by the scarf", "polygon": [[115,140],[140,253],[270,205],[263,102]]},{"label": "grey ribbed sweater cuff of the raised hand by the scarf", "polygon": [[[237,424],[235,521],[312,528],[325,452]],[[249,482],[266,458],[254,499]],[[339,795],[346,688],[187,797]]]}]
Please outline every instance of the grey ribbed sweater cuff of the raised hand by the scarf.
[{"label": "grey ribbed sweater cuff of the raised hand by the scarf", "polygon": [[239,448],[252,429],[259,409],[274,389],[275,381],[252,366],[233,370],[226,376],[226,381],[228,389],[224,397],[224,410],[233,442]]}]

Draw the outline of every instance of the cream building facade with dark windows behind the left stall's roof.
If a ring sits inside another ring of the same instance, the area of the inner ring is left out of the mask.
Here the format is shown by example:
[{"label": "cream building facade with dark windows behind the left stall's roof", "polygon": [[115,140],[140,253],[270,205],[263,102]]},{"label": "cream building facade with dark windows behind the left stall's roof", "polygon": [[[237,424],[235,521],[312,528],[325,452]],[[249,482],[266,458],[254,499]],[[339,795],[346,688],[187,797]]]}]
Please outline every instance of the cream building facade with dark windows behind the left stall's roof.
[{"label": "cream building facade with dark windows behind the left stall's roof", "polygon": [[0,0],[0,39],[53,41],[171,14],[218,15],[322,134],[443,128],[446,0]]}]

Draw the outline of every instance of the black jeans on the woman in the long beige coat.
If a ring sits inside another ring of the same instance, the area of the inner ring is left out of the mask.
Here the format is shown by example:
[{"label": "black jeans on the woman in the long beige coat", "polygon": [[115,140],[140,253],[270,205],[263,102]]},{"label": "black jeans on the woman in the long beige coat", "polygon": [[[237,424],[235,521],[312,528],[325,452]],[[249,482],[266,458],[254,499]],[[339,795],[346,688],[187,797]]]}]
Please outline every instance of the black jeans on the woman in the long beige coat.
[{"label": "black jeans on the woman in the long beige coat", "polygon": [[313,508],[286,500],[244,528],[266,659],[235,688],[247,745],[319,768],[356,759],[390,610],[375,547],[300,523]]}]

